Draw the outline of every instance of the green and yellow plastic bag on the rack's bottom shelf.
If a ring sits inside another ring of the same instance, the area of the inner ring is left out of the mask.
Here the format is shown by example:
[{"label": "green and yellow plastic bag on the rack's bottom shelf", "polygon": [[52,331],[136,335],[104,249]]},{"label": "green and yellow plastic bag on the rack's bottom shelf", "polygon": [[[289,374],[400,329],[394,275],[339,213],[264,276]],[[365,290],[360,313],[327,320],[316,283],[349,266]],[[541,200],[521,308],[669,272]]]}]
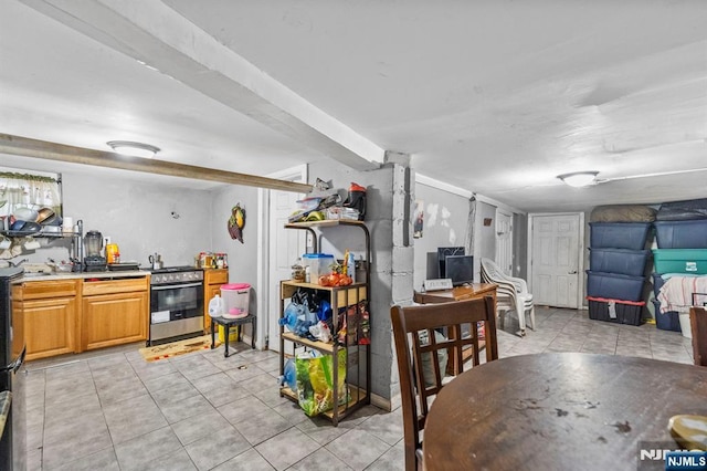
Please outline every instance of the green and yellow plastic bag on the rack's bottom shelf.
[{"label": "green and yellow plastic bag on the rack's bottom shelf", "polygon": [[[346,387],[346,348],[338,353],[338,404],[348,400]],[[334,408],[334,369],[331,355],[312,356],[310,352],[295,358],[299,407],[309,417]]]}]

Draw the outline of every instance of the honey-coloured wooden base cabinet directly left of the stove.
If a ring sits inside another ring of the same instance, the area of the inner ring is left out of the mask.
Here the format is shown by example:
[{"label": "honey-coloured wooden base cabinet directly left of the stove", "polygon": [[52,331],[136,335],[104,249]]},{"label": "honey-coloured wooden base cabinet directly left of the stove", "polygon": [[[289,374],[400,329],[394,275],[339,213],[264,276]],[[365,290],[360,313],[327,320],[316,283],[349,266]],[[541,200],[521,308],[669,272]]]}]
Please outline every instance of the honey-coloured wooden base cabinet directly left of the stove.
[{"label": "honey-coloured wooden base cabinet directly left of the stove", "polygon": [[83,282],[81,350],[147,339],[149,280]]}]

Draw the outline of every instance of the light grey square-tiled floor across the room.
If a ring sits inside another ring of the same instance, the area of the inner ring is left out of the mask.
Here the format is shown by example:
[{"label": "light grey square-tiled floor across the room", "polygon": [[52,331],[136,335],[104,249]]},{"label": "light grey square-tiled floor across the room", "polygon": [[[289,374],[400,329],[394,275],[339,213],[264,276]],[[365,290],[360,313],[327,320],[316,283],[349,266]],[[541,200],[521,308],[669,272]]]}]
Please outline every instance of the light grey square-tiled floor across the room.
[{"label": "light grey square-tiled floor across the room", "polygon": [[[536,308],[499,355],[588,352],[692,363],[679,333]],[[28,364],[29,470],[397,470],[402,418],[368,406],[333,427],[277,393],[277,355],[223,347],[146,363],[141,345]],[[245,367],[244,367],[245,366]]]}]

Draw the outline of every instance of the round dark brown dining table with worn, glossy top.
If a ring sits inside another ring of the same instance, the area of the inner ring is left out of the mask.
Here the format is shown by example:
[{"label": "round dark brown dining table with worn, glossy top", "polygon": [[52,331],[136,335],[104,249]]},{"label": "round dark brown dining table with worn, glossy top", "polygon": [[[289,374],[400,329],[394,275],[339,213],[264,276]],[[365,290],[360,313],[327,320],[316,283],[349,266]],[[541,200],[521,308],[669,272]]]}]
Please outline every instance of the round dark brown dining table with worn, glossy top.
[{"label": "round dark brown dining table with worn, glossy top", "polygon": [[707,416],[706,367],[581,353],[513,356],[475,366],[440,391],[424,428],[424,464],[664,469],[641,450],[678,449],[668,430],[676,415]]}]

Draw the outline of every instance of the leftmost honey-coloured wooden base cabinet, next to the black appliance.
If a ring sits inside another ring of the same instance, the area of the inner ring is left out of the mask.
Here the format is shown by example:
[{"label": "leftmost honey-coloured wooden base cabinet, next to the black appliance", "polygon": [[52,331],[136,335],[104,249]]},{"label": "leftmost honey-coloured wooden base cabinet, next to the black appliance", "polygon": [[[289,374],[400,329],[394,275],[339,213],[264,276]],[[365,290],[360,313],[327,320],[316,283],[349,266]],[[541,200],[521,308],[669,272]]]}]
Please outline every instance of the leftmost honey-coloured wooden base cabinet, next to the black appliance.
[{"label": "leftmost honey-coloured wooden base cabinet, next to the black appliance", "polygon": [[12,306],[22,320],[27,359],[76,350],[78,280],[27,282],[12,287]]}]

